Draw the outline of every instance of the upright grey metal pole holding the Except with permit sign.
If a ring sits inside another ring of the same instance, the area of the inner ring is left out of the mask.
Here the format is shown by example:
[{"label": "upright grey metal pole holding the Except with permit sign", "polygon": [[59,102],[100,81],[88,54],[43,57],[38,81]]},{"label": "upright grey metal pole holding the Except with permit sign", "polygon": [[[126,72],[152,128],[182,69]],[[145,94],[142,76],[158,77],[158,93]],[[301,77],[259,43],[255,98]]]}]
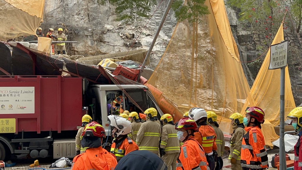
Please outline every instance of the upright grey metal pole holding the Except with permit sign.
[{"label": "upright grey metal pole holding the Except with permit sign", "polygon": [[285,147],[284,147],[284,86],[285,86],[285,67],[280,69],[280,168],[279,170],[286,170],[285,161]]}]

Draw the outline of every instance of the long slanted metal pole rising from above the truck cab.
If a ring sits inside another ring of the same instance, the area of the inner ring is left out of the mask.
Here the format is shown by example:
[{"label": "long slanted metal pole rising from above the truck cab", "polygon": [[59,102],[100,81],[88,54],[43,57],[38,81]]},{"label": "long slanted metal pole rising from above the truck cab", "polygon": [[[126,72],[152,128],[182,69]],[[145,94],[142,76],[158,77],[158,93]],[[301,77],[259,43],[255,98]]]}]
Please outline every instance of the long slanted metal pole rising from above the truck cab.
[{"label": "long slanted metal pole rising from above the truck cab", "polygon": [[153,49],[154,44],[155,44],[155,42],[156,42],[156,39],[157,39],[157,37],[158,37],[158,35],[159,35],[159,32],[160,32],[160,30],[162,29],[162,25],[164,24],[165,18],[167,17],[167,14],[168,14],[168,12],[169,12],[169,10],[170,10],[170,8],[171,8],[172,2],[173,2],[173,0],[169,0],[168,5],[167,5],[167,8],[166,8],[166,10],[165,10],[165,13],[162,15],[162,20],[160,21],[159,26],[158,26],[158,28],[157,28],[157,30],[156,30],[155,36],[154,36],[153,41],[152,41],[152,43],[151,43],[151,46],[150,46],[150,48],[149,48],[149,50],[148,50],[148,52],[147,52],[147,55],[146,55],[146,57],[145,57],[145,59],[144,59],[143,65],[142,65],[142,67],[140,68],[140,73],[139,73],[138,76],[137,76],[137,82],[140,82],[140,75],[142,74],[142,72],[143,72],[144,69],[145,69],[146,62],[147,62],[147,60],[149,59],[149,56],[150,56],[150,54],[151,54],[151,52],[152,52],[152,49]]}]

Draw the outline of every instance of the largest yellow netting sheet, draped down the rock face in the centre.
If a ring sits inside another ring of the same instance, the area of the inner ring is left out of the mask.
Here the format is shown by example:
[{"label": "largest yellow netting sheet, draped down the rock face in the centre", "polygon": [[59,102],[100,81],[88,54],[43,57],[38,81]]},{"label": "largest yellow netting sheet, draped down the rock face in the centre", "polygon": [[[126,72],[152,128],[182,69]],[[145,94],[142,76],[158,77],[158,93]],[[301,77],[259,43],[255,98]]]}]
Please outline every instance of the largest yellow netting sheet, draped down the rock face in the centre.
[{"label": "largest yellow netting sheet, draped down the rock face in the centre", "polygon": [[[177,24],[148,83],[178,108],[198,106],[215,111],[222,116],[218,120],[221,129],[231,133],[228,118],[241,111],[250,88],[224,2],[207,0],[206,5],[210,14],[202,18],[202,24]],[[176,111],[174,117],[180,117],[178,114]]]}]

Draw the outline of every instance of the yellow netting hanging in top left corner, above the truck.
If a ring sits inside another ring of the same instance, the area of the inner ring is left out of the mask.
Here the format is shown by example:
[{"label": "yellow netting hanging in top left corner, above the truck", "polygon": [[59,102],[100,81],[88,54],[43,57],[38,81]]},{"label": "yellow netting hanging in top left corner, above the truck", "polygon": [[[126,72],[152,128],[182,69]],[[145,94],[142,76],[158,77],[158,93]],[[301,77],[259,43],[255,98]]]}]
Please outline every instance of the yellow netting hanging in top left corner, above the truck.
[{"label": "yellow netting hanging in top left corner, above the truck", "polygon": [[0,34],[6,39],[35,35],[43,20],[44,3],[45,0],[0,0]]}]

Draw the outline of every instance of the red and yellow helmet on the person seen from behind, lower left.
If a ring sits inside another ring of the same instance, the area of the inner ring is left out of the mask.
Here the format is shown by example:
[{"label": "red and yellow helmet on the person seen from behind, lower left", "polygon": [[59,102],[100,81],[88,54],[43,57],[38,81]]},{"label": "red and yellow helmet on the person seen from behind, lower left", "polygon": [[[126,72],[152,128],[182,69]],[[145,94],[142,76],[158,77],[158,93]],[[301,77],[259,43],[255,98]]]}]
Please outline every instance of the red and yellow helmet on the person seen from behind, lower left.
[{"label": "red and yellow helmet on the person seen from behind, lower left", "polygon": [[106,137],[105,129],[98,122],[91,122],[85,126],[82,136]]}]

